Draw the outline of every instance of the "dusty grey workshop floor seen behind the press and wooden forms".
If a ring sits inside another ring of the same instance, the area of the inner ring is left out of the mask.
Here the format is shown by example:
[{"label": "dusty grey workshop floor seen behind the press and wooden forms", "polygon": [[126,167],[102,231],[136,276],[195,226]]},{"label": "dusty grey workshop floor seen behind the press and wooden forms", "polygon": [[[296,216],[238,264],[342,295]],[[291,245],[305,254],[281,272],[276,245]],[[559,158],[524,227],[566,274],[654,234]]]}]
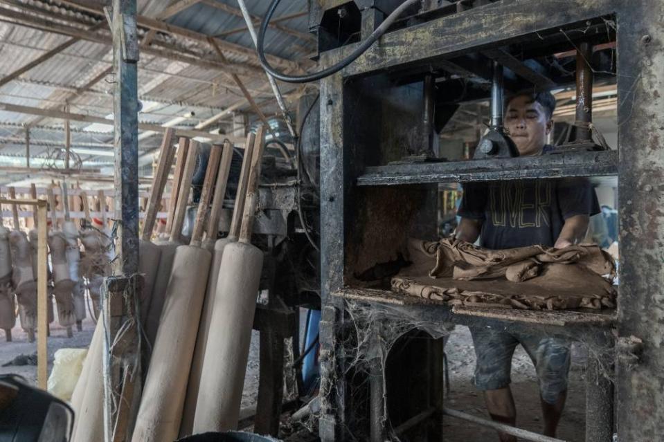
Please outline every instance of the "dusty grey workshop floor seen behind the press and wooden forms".
[{"label": "dusty grey workshop floor seen behind the press and wooden forms", "polygon": [[[93,322],[88,317],[83,322],[83,331],[74,331],[73,338],[66,338],[64,328],[58,324],[51,326],[51,338],[48,339],[48,369],[53,365],[53,353],[64,347],[87,347],[92,337]],[[0,365],[14,359],[20,354],[30,355],[37,351],[36,344],[30,344],[27,335],[17,324],[12,331],[13,342],[4,342],[3,333],[0,332]],[[449,358],[449,376],[451,392],[447,398],[447,406],[459,409],[476,416],[487,416],[481,394],[472,386],[472,374],[475,365],[475,353],[468,329],[457,326],[451,335],[446,347]],[[570,374],[570,387],[568,391],[567,406],[559,426],[558,437],[569,442],[584,440],[584,407],[585,387],[583,381],[583,364],[585,357],[580,349],[573,351],[573,365]],[[28,380],[37,382],[37,367],[33,365],[0,367],[0,374],[15,373]],[[519,415],[517,425],[539,432],[541,430],[541,411],[539,408],[539,393],[535,369],[530,358],[521,349],[517,348],[512,362],[512,389],[517,403]],[[258,396],[258,332],[253,331],[249,365],[244,382],[242,407],[251,407]],[[492,442],[498,441],[496,433],[482,427],[469,425],[464,421],[446,418],[446,442]],[[298,438],[299,439],[299,438]],[[311,437],[303,434],[299,440]],[[289,438],[289,440],[293,440]],[[404,439],[405,442],[406,439]]]}]

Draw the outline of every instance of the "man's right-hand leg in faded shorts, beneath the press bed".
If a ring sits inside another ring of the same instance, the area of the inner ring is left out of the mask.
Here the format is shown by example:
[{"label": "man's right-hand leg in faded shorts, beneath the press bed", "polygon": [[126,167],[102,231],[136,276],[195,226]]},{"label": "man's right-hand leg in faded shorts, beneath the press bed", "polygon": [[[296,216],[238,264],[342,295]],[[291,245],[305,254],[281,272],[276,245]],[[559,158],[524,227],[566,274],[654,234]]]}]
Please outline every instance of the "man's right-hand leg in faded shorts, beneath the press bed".
[{"label": "man's right-hand leg in faded shorts, beneath the press bed", "polygon": [[544,435],[555,437],[567,398],[571,344],[559,338],[528,336],[521,340],[521,345],[537,371]]}]

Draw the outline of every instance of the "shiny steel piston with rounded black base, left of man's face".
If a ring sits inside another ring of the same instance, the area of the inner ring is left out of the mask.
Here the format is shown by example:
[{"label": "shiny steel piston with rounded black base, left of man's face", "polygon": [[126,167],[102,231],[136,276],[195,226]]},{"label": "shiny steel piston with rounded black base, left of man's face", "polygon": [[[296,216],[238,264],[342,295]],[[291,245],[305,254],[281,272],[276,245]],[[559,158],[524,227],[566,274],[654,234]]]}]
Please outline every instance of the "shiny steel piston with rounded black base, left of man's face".
[{"label": "shiny steel piston with rounded black base, left of man's face", "polygon": [[519,156],[514,141],[505,133],[503,127],[503,66],[493,62],[493,81],[491,84],[491,125],[482,137],[474,159],[481,158],[512,158]]}]

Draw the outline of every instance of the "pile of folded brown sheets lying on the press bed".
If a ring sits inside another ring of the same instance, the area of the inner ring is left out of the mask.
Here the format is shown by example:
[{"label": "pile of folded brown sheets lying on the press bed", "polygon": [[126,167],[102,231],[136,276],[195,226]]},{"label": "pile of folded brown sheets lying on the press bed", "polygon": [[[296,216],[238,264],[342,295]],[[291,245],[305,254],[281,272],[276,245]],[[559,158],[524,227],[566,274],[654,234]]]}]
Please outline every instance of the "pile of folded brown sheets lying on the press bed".
[{"label": "pile of folded brown sheets lying on the press bed", "polygon": [[488,250],[456,239],[411,239],[409,255],[413,264],[392,278],[397,293],[501,309],[616,306],[615,264],[594,244]]}]

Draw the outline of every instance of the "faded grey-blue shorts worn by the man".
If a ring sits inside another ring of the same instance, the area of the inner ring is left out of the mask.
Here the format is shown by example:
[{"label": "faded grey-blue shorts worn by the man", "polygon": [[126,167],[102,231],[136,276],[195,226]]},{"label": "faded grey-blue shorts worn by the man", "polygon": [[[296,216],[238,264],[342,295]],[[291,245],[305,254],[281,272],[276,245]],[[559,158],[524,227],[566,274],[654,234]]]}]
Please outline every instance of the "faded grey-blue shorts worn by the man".
[{"label": "faded grey-blue shorts worn by the man", "polygon": [[567,389],[571,348],[568,340],[485,328],[471,328],[470,332],[477,356],[474,383],[478,389],[510,385],[512,355],[517,344],[521,344],[535,365],[539,392],[546,403],[555,403]]}]

